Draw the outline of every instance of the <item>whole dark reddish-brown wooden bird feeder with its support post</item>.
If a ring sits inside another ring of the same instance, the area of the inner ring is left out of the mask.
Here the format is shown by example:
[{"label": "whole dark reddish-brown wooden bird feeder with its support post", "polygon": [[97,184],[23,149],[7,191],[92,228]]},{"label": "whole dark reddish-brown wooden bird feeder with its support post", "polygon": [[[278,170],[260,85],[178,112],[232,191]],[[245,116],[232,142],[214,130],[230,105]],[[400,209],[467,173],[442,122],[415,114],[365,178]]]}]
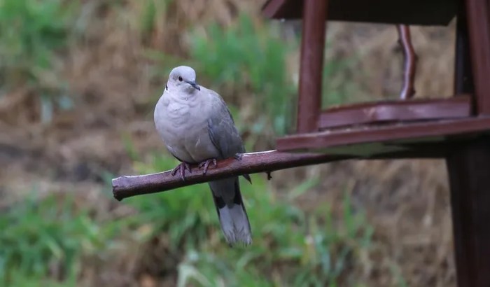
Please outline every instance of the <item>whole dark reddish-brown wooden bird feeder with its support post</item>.
[{"label": "whole dark reddish-brown wooden bird feeder with its support post", "polygon": [[[302,20],[297,128],[276,140],[277,150],[446,159],[458,286],[490,286],[490,1],[269,0],[263,13]],[[455,17],[454,95],[414,99],[416,56],[407,25],[448,25]],[[321,110],[328,20],[398,25],[405,52],[399,100]]]}]

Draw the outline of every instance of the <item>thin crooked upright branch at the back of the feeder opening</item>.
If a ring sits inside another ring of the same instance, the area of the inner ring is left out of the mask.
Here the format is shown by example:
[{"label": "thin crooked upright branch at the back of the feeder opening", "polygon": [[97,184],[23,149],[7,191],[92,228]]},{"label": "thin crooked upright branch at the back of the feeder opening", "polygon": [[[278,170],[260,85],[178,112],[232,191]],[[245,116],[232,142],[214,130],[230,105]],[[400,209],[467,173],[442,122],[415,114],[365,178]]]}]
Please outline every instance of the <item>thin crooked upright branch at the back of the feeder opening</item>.
[{"label": "thin crooked upright branch at the back of the feeder opening", "polygon": [[403,49],[403,87],[400,92],[400,99],[410,99],[414,97],[414,79],[416,70],[417,55],[412,46],[412,38],[410,37],[410,28],[407,25],[397,25],[398,42]]}]

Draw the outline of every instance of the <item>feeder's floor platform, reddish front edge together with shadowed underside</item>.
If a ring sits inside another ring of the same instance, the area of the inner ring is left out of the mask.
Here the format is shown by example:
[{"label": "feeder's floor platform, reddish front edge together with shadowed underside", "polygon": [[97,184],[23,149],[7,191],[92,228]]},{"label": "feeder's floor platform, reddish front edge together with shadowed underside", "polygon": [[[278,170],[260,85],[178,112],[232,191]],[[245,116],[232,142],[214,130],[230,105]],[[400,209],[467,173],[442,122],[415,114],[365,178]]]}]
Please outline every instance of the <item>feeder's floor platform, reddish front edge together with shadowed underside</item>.
[{"label": "feeder's floor platform, reddish front edge together with shadowed underside", "polygon": [[[413,158],[417,158],[419,153],[426,157],[426,151],[423,151],[426,144],[444,145],[449,141],[468,139],[482,132],[490,133],[490,117],[391,123],[293,134],[277,139],[276,146],[278,151],[322,152],[357,155],[362,158],[410,149]],[[431,152],[435,153],[434,158],[444,157],[444,153],[437,153],[437,150]],[[393,158],[396,158],[395,154]]]}]

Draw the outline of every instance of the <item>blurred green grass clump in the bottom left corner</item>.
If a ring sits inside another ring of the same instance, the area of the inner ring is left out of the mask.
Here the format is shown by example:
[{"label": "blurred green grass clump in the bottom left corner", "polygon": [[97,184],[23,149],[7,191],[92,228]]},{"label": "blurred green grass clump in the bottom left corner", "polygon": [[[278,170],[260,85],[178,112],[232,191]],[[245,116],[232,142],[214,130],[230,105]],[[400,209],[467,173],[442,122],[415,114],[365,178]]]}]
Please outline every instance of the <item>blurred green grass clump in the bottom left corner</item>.
[{"label": "blurred green grass clump in the bottom left corner", "polygon": [[77,209],[71,195],[28,197],[3,211],[0,285],[33,286],[51,269],[61,270],[66,282],[73,281],[80,255],[104,248],[112,232],[109,225],[95,222],[88,211]]}]

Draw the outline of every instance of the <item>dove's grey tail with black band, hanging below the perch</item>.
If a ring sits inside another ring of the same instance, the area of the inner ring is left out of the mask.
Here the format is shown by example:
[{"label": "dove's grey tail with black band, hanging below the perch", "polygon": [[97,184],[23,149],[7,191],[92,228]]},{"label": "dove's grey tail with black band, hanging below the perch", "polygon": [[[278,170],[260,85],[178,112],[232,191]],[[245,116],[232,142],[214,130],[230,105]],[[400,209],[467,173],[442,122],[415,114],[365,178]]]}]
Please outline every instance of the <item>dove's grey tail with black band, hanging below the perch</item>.
[{"label": "dove's grey tail with black band, hanging below the perch", "polygon": [[211,181],[214,205],[218,211],[221,230],[230,246],[237,242],[252,243],[252,232],[243,200],[241,199],[238,177]]}]

